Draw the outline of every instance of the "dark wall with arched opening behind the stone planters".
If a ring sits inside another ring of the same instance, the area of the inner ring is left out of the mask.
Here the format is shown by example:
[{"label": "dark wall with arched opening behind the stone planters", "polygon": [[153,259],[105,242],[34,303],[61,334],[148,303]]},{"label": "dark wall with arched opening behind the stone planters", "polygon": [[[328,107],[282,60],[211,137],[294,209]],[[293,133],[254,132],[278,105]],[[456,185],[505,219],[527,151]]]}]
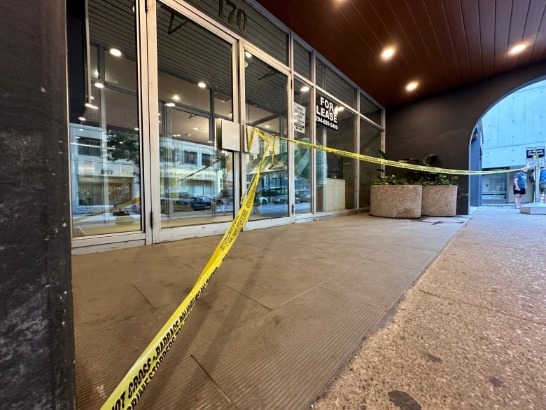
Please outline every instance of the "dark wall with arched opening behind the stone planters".
[{"label": "dark wall with arched opening behind the stone planters", "polygon": [[[546,60],[476,81],[447,93],[386,110],[386,153],[390,158],[422,158],[436,153],[444,168],[470,169],[472,130],[485,111],[521,86],[544,78]],[[469,178],[459,177],[468,192]],[[469,198],[459,197],[458,214],[468,214]]]}]

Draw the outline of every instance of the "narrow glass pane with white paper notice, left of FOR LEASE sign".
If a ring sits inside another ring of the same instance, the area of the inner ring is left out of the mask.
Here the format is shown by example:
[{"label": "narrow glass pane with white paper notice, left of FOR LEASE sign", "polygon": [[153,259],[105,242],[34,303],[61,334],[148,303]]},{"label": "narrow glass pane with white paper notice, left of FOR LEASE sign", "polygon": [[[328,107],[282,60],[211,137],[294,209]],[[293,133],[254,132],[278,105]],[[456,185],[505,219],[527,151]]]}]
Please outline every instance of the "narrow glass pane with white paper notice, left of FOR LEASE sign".
[{"label": "narrow glass pane with white paper notice, left of FOR LEASE sign", "polygon": [[[294,81],[294,139],[311,142],[311,90],[306,83]],[[294,202],[295,213],[311,212],[311,149],[294,146]]]}]

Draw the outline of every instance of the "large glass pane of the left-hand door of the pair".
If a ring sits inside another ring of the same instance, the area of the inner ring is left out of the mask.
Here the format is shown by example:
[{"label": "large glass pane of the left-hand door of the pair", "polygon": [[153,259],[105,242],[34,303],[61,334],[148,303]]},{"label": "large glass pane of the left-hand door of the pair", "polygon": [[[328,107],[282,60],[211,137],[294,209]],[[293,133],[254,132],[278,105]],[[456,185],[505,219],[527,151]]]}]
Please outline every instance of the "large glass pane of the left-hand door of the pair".
[{"label": "large glass pane of the left-hand door of the pair", "polygon": [[232,117],[232,45],[160,4],[158,69],[161,228],[230,221],[233,153],[215,122]]}]

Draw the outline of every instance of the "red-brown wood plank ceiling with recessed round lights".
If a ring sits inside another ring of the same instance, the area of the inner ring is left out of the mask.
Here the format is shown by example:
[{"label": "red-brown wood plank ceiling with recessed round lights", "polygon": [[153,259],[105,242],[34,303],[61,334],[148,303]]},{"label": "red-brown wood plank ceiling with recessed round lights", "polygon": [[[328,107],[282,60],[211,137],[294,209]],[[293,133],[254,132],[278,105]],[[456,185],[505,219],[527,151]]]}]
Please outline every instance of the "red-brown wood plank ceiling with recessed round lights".
[{"label": "red-brown wood plank ceiling with recessed round lights", "polygon": [[[546,58],[546,0],[258,2],[384,107]],[[527,48],[509,55],[517,43]]]}]

